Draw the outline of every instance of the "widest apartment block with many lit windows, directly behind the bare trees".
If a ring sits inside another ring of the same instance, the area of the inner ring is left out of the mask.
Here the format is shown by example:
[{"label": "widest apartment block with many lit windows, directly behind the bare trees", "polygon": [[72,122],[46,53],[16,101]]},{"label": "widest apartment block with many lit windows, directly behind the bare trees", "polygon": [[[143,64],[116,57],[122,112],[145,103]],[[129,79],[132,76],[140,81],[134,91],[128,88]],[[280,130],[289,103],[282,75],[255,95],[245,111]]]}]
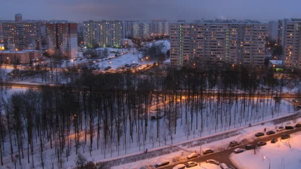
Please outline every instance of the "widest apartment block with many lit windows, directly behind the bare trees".
[{"label": "widest apartment block with many lit windows, directly behind the bare trees", "polygon": [[171,66],[264,64],[266,24],[255,21],[171,23]]}]

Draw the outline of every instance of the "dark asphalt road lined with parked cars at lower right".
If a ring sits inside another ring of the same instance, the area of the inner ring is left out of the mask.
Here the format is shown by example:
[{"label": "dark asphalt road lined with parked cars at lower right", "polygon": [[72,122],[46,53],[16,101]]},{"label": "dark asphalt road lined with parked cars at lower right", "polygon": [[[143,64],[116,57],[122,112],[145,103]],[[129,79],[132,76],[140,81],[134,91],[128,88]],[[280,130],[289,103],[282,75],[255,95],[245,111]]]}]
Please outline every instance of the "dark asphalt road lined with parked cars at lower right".
[{"label": "dark asphalt road lined with parked cars at lower right", "polygon": [[[258,137],[256,139],[254,139],[254,141],[246,143],[246,144],[256,144],[258,141],[269,142],[272,138],[279,138],[279,137],[281,137],[281,134],[283,134],[283,133],[292,134],[292,133],[299,132],[299,131],[301,131],[301,127],[295,128],[295,129],[291,129],[291,130],[284,130],[282,132],[276,131],[275,134],[265,135],[265,136],[262,136],[262,137]],[[204,162],[206,162],[206,160],[214,159],[214,160],[219,161],[220,163],[225,163],[231,169],[237,169],[235,167],[235,165],[229,159],[229,156],[230,156],[231,153],[233,153],[233,150],[236,149],[236,148],[242,148],[242,149],[244,149],[246,144],[242,144],[242,145],[235,146],[235,147],[232,147],[232,148],[229,147],[226,150],[219,151],[219,152],[212,153],[212,154],[201,155],[201,157],[198,157],[198,158],[195,158],[195,159],[192,159],[192,160],[189,160],[189,161],[193,161],[193,162],[197,162],[197,163],[200,163],[200,162],[204,163]],[[248,150],[248,151],[253,151],[253,150]],[[179,163],[179,164],[185,164],[185,163],[187,163],[187,161],[183,162],[183,163]],[[176,165],[168,166],[168,167],[166,167],[164,169],[172,169],[175,166]]]}]

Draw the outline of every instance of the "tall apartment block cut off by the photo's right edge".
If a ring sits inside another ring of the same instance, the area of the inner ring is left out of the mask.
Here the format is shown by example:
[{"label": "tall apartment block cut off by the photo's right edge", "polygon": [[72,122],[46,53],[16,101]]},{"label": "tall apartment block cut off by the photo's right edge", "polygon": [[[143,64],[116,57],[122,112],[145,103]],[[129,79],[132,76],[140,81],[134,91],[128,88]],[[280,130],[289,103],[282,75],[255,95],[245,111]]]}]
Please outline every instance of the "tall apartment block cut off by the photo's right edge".
[{"label": "tall apartment block cut off by the photo's right edge", "polygon": [[301,19],[284,19],[282,26],[283,66],[301,69]]}]

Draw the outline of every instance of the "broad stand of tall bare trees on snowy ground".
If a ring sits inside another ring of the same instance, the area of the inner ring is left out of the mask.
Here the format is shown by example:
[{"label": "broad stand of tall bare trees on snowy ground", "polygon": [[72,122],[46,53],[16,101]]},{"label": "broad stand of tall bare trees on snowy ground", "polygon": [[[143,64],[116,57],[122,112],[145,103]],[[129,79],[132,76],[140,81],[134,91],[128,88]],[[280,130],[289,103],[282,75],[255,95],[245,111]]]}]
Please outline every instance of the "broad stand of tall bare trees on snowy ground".
[{"label": "broad stand of tall bare trees on snowy ground", "polygon": [[[20,166],[26,159],[32,167],[44,168],[45,149],[50,149],[62,167],[72,154],[92,156],[96,151],[107,158],[131,147],[141,151],[173,144],[174,135],[183,130],[189,139],[259,122],[279,113],[283,87],[300,89],[299,74],[212,65],[165,71],[154,67],[139,74],[86,70],[66,86],[2,98],[1,166],[3,154]],[[260,112],[268,107],[273,109]]]}]

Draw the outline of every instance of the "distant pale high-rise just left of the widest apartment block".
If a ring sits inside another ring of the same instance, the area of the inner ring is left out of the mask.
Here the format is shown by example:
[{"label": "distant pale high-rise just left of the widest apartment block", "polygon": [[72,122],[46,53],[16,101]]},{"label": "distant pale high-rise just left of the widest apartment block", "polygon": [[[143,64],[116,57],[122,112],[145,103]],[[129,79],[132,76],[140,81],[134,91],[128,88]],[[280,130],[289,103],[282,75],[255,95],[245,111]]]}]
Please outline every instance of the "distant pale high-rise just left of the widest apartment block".
[{"label": "distant pale high-rise just left of the widest apartment block", "polygon": [[170,22],[165,19],[153,19],[151,20],[151,35],[160,36],[165,35],[169,36],[170,34]]}]

